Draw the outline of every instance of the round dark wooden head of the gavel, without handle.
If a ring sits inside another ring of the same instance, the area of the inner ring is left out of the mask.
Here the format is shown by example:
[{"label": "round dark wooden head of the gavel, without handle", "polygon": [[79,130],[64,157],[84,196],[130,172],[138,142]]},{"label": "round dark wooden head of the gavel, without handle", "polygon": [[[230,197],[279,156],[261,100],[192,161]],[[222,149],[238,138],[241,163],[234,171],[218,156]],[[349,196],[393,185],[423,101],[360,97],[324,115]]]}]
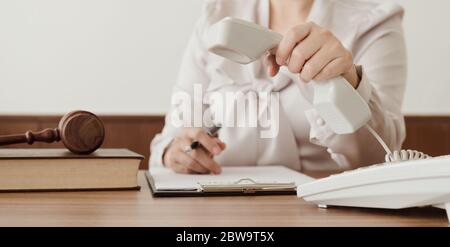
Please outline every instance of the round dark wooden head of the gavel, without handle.
[{"label": "round dark wooden head of the gavel, without handle", "polygon": [[105,139],[102,121],[87,111],[73,111],[61,118],[59,136],[64,146],[75,154],[90,154]]}]

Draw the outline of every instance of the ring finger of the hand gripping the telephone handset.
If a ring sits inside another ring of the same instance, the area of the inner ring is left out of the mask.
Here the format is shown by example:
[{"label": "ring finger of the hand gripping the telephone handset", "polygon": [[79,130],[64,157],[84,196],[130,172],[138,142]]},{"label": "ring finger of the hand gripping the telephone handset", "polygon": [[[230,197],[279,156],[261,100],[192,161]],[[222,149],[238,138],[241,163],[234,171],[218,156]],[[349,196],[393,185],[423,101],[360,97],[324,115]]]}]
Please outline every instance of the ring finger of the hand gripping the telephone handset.
[{"label": "ring finger of the hand gripping the telephone handset", "polygon": [[312,56],[303,66],[300,77],[303,81],[309,82],[332,60],[338,57],[330,49],[322,47],[314,56]]}]

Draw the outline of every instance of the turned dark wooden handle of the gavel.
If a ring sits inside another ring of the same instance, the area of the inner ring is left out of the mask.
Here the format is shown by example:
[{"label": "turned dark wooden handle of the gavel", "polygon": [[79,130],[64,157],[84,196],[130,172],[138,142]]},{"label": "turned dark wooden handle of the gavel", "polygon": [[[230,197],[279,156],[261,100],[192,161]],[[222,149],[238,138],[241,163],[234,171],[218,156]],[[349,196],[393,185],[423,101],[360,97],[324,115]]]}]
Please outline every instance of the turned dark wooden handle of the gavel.
[{"label": "turned dark wooden handle of the gavel", "polygon": [[57,142],[61,140],[59,137],[58,129],[45,129],[39,132],[27,131],[25,134],[20,135],[6,135],[0,136],[0,146],[18,144],[18,143],[28,143],[33,144],[34,142]]}]

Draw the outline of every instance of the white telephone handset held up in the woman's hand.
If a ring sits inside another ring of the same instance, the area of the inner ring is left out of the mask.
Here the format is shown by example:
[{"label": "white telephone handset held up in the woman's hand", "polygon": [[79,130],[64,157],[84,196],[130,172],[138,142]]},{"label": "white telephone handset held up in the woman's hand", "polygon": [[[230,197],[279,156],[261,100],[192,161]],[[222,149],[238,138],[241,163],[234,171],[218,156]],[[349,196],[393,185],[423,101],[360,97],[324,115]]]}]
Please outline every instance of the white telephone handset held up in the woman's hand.
[{"label": "white telephone handset held up in the woman's hand", "polygon": [[[230,17],[213,25],[209,32],[208,50],[241,64],[260,59],[283,38],[265,27]],[[370,120],[369,106],[344,78],[313,83],[314,108],[335,133],[354,133]]]}]

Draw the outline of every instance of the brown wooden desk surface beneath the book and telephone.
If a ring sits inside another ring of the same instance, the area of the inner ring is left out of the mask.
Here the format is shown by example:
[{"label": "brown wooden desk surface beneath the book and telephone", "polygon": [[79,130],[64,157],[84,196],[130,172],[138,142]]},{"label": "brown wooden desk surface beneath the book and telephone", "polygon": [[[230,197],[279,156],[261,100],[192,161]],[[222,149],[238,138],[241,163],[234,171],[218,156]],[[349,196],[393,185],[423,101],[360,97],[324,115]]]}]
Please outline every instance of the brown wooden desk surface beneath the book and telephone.
[{"label": "brown wooden desk surface beneath the book and telephone", "polygon": [[296,196],[153,198],[141,191],[0,194],[0,226],[448,226],[444,210],[319,209]]}]

